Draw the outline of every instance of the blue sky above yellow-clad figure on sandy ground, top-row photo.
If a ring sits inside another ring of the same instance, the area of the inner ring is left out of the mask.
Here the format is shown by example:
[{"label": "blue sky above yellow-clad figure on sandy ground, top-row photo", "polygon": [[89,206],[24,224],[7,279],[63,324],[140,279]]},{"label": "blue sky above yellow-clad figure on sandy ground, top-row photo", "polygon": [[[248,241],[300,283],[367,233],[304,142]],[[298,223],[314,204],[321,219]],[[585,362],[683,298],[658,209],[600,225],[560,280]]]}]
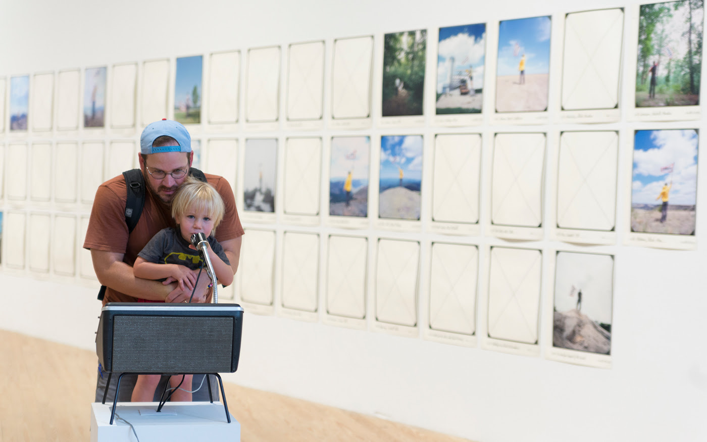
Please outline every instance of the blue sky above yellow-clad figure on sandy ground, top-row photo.
[{"label": "blue sky above yellow-clad figure on sandy ground, top-row photo", "polygon": [[548,74],[550,31],[549,16],[501,21],[498,26],[498,76],[518,75],[522,54],[525,54],[526,75]]}]

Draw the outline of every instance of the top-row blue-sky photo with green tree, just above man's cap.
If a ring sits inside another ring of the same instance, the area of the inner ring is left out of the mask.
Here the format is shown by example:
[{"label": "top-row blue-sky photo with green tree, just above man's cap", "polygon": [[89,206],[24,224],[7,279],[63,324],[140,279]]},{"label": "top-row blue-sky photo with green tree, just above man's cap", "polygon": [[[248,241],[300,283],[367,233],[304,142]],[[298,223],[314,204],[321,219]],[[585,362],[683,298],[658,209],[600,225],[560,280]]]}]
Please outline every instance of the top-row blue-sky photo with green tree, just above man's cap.
[{"label": "top-row blue-sky photo with green tree, just above man's cap", "polygon": [[201,122],[201,55],[177,58],[175,76],[175,121]]}]

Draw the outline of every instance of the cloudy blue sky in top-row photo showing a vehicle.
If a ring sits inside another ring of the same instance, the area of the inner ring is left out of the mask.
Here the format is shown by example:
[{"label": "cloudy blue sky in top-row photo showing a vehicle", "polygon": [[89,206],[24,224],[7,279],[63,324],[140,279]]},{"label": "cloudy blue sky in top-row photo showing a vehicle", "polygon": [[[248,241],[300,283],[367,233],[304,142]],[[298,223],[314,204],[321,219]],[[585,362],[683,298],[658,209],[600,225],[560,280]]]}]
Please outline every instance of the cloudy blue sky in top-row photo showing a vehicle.
[{"label": "cloudy blue sky in top-row photo showing a vehicle", "polygon": [[440,28],[437,55],[437,93],[448,83],[450,63],[454,57],[453,75],[473,70],[474,88],[484,87],[484,58],[486,53],[486,24]]}]

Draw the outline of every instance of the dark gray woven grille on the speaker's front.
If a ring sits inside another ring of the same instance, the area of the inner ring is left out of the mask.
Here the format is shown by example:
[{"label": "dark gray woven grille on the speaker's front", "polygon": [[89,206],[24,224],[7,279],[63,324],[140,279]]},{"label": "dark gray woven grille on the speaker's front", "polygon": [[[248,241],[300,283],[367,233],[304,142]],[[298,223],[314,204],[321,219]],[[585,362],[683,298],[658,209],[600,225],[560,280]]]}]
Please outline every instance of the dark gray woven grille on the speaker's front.
[{"label": "dark gray woven grille on the speaker's front", "polygon": [[233,318],[116,315],[113,371],[230,373]]}]

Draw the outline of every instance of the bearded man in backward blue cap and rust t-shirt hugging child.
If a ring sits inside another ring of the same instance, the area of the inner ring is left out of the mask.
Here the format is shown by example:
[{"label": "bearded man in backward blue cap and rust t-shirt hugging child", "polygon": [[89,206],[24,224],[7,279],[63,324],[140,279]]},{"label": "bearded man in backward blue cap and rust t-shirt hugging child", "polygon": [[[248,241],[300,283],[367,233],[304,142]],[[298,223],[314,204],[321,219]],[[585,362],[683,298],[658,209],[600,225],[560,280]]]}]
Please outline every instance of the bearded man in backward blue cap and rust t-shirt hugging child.
[{"label": "bearded man in backward blue cap and rust t-shirt hugging child", "polygon": [[[170,204],[177,187],[187,178],[192,165],[194,153],[191,141],[187,129],[182,124],[170,120],[149,124],[142,132],[139,163],[146,184],[145,204],[138,223],[130,233],[124,214],[127,185],[123,175],[98,187],[83,248],[90,250],[98,281],[107,287],[103,299],[104,306],[109,302],[136,302],[137,298],[168,303],[189,300],[191,291],[179,289],[170,279],[160,282],[136,278],[132,264],[153,235],[163,228],[175,226]],[[222,177],[206,175],[206,180],[216,187],[226,206],[226,215],[218,226],[216,240],[223,246],[235,274],[240,257],[241,236],[244,232],[235,209],[233,192],[230,184]],[[211,300],[211,293],[207,288],[209,282],[209,278],[199,278],[192,302],[204,303]],[[103,399],[106,379],[107,375],[99,366],[96,402]],[[166,382],[166,378],[163,382]],[[194,385],[199,385],[200,382],[201,376],[195,376]],[[107,400],[113,400],[115,397],[116,383],[117,379],[112,380]],[[134,383],[135,376],[123,378],[119,401],[129,402]],[[161,386],[157,391],[161,392]],[[206,388],[201,388],[199,392],[194,393],[193,398],[208,400],[209,392]]]}]

